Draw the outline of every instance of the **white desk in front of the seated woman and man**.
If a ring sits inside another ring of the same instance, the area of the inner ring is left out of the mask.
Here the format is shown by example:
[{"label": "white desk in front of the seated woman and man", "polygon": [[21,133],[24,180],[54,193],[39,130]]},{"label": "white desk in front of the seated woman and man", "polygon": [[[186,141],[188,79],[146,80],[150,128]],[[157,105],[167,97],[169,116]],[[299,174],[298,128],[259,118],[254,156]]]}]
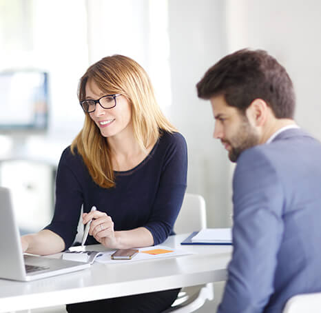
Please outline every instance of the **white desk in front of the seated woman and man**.
[{"label": "white desk in front of the seated woman and man", "polygon": [[30,283],[0,279],[0,312],[225,281],[231,246],[180,245],[186,237],[187,234],[171,236],[162,245],[196,254],[126,264],[94,263],[80,272]]}]

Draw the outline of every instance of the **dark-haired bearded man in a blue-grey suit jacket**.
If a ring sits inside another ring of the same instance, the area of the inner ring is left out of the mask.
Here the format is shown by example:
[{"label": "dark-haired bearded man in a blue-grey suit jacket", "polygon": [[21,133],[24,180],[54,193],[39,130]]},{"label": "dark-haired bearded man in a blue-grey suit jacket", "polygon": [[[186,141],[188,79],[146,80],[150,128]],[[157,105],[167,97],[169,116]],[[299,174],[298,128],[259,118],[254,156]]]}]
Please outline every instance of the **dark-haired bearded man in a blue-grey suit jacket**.
[{"label": "dark-haired bearded man in a blue-grey suit jacket", "polygon": [[262,50],[224,57],[197,84],[236,162],[234,251],[219,313],[278,313],[321,291],[321,144],[293,121],[286,70]]}]

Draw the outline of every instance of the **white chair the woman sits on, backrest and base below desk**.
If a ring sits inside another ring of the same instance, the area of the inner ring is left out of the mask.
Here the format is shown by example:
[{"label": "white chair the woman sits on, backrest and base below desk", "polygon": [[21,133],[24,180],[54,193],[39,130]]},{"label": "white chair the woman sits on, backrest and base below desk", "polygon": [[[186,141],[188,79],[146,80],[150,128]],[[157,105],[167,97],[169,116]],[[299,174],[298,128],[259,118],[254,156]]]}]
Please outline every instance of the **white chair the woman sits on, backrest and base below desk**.
[{"label": "white chair the woman sits on, backrest and base below desk", "polygon": [[[187,234],[206,228],[206,209],[203,196],[185,194],[182,208],[174,225],[176,234]],[[163,313],[189,313],[198,310],[206,300],[214,299],[213,283],[184,287],[176,301]]]}]

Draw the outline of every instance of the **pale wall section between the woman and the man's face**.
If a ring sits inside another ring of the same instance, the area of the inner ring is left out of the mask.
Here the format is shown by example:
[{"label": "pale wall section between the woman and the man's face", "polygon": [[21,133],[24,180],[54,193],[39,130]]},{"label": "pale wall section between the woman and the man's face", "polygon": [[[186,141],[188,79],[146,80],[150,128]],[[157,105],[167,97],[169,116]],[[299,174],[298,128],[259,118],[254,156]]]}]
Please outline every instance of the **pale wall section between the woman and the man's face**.
[{"label": "pale wall section between the woman and the man's face", "polygon": [[202,194],[208,225],[229,225],[229,161],[212,138],[214,119],[208,101],[198,99],[196,83],[227,53],[225,1],[169,1],[172,107],[169,114],[187,139],[187,191]]}]

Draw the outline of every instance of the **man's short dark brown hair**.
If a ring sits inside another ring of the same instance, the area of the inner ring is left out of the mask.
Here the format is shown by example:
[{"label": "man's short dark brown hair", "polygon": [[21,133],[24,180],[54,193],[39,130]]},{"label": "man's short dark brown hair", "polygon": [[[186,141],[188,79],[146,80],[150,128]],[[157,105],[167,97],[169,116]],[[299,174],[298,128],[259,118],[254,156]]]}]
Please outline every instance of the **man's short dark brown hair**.
[{"label": "man's short dark brown hair", "polygon": [[296,99],[285,68],[264,50],[238,50],[220,59],[197,85],[198,97],[224,95],[228,105],[245,112],[264,100],[278,119],[293,119]]}]

